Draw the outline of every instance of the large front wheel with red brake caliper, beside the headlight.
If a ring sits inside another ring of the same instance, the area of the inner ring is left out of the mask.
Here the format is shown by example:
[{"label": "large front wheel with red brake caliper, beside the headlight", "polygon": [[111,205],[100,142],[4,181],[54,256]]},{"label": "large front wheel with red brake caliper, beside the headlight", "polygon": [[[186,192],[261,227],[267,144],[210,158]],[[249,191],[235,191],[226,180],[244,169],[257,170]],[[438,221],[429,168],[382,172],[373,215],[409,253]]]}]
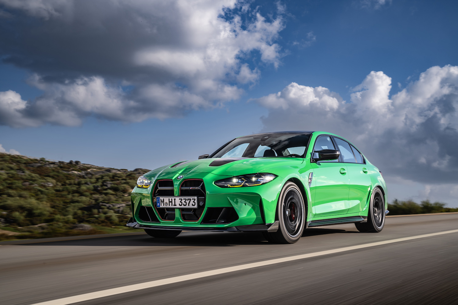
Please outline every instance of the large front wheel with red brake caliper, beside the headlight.
[{"label": "large front wheel with red brake caliper, beside the headlight", "polygon": [[287,182],[282,188],[277,204],[277,232],[263,232],[267,241],[278,244],[293,244],[304,232],[306,210],[299,187]]}]

